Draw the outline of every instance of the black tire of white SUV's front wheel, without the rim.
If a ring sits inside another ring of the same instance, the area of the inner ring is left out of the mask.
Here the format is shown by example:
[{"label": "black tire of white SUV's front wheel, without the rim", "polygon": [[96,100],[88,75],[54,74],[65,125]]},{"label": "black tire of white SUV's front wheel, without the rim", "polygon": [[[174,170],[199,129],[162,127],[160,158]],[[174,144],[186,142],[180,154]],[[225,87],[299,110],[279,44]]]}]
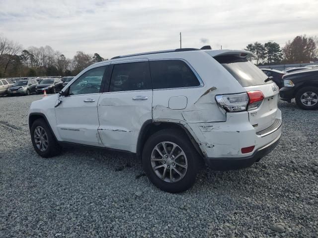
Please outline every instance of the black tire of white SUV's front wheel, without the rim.
[{"label": "black tire of white SUV's front wheel, without the rim", "polygon": [[[41,126],[47,134],[48,147],[45,151],[39,150],[39,148],[35,144],[34,130],[37,126]],[[30,133],[31,133],[31,140],[32,140],[33,147],[36,153],[38,153],[41,157],[50,158],[61,153],[61,150],[62,150],[61,146],[58,144],[58,142],[54,138],[53,133],[51,132],[49,126],[47,125],[44,119],[36,119],[31,126]]]}]

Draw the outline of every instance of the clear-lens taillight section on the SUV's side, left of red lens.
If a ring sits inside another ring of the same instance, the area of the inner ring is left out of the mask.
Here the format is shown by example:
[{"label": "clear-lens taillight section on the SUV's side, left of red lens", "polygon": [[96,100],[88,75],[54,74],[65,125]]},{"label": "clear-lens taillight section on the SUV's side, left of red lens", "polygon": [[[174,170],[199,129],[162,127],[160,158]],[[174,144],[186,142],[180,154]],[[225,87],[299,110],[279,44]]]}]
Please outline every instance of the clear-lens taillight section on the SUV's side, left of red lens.
[{"label": "clear-lens taillight section on the SUV's side, left of red lens", "polygon": [[247,109],[247,93],[217,95],[215,99],[222,108],[230,113],[242,112]]}]

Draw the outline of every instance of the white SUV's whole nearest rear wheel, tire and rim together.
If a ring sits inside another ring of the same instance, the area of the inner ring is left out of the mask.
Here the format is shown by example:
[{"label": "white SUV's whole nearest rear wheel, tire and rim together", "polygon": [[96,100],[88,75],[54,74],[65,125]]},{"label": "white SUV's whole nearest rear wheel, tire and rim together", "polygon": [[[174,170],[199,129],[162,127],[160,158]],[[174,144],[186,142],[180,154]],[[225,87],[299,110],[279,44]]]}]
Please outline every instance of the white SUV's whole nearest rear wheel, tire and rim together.
[{"label": "white SUV's whole nearest rear wheel, tire and rim together", "polygon": [[195,182],[199,155],[187,135],[178,129],[163,129],[147,140],[142,162],[148,178],[167,192],[182,192]]}]

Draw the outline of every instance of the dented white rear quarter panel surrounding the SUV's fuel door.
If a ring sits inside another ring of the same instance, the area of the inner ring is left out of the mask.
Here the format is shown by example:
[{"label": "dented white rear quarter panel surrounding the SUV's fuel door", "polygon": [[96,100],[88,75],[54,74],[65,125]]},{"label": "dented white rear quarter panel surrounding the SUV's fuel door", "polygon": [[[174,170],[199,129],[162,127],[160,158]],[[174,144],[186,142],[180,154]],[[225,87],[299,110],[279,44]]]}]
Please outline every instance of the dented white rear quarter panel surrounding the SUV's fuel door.
[{"label": "dented white rear quarter panel surrounding the SUV's fuel door", "polygon": [[[185,57],[183,60],[192,66],[202,79],[203,85],[193,88],[154,90],[153,119],[154,121],[175,121],[190,128],[189,132],[205,154],[208,147],[213,147],[213,140],[210,136],[204,136],[203,133],[211,132],[212,128],[204,124],[227,120],[227,115],[217,105],[215,96],[243,92],[244,89],[220,63],[205,52],[187,52],[187,55],[189,58]],[[173,54],[169,56],[173,59]],[[187,97],[185,109],[169,109],[168,101],[175,96]],[[199,128],[199,125],[203,127]]]}]

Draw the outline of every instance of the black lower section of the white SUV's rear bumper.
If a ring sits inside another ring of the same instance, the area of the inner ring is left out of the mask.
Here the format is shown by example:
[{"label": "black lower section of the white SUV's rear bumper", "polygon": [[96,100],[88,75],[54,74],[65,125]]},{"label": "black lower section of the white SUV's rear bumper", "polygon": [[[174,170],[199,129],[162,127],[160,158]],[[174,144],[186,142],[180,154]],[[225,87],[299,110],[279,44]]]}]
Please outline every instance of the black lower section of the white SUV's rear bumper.
[{"label": "black lower section of the white SUV's rear bumper", "polygon": [[242,168],[250,167],[255,162],[258,162],[261,158],[268,155],[272,150],[275,149],[281,134],[270,142],[269,144],[257,149],[254,153],[247,157],[239,158],[204,158],[205,163],[213,170],[238,170]]}]

